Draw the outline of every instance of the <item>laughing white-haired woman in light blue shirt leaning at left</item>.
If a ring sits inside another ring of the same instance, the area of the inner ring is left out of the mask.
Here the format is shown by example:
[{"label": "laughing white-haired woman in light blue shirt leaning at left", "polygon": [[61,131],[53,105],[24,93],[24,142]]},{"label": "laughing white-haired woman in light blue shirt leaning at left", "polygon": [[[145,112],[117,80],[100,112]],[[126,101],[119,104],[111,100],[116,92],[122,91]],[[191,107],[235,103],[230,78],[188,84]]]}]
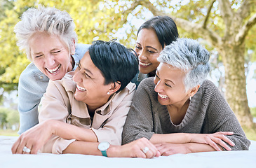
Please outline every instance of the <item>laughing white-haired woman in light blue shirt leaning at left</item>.
[{"label": "laughing white-haired woman in light blue shirt leaning at left", "polygon": [[62,79],[83,57],[90,45],[76,44],[70,15],[56,8],[29,8],[14,31],[17,45],[32,62],[22,71],[18,86],[18,111],[22,134],[39,123],[38,106],[50,80]]}]

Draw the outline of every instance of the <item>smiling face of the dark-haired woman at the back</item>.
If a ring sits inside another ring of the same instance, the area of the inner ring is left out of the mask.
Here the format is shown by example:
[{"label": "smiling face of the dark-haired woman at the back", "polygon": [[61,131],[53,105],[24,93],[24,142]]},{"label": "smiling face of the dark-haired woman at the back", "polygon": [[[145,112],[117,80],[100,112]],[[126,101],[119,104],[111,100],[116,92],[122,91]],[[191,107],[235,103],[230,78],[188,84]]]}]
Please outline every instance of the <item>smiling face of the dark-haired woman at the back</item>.
[{"label": "smiling face of the dark-haired woman at the back", "polygon": [[154,29],[141,29],[135,45],[135,52],[139,56],[139,69],[141,73],[155,73],[159,66],[157,57],[162,50],[159,38]]}]

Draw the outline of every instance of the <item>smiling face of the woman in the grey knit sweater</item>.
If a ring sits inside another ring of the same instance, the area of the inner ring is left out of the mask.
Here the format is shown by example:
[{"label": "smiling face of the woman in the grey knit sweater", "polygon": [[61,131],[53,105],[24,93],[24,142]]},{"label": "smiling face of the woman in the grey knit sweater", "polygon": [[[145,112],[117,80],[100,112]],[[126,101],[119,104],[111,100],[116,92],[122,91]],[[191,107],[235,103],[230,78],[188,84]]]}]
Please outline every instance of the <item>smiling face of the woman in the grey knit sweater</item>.
[{"label": "smiling face of the woman in the grey knit sweater", "polygon": [[185,73],[166,63],[159,64],[154,78],[155,91],[162,105],[183,106],[189,99],[191,90],[185,91],[183,79]]}]

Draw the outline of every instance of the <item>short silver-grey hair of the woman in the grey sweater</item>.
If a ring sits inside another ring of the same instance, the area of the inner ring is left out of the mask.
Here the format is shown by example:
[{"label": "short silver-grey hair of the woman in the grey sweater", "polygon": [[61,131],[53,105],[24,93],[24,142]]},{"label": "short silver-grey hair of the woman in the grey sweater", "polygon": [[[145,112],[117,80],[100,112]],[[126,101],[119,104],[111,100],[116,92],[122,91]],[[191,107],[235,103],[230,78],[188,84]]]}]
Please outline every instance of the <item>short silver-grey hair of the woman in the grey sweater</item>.
[{"label": "short silver-grey hair of the woman in the grey sweater", "polygon": [[206,80],[210,71],[209,58],[208,50],[196,40],[177,38],[177,41],[173,41],[162,50],[157,60],[186,73],[184,86],[187,92]]}]

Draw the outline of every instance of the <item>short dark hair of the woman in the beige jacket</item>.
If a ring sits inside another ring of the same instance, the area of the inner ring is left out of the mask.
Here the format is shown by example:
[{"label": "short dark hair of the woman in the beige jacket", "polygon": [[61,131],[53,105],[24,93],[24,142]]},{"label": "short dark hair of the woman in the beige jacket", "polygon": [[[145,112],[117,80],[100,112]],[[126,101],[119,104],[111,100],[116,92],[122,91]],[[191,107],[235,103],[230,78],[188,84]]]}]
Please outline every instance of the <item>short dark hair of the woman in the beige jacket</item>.
[{"label": "short dark hair of the woman in the beige jacket", "polygon": [[105,85],[120,83],[117,91],[123,90],[138,71],[138,59],[132,49],[112,41],[93,41],[89,54],[93,64],[100,69],[105,78]]}]

